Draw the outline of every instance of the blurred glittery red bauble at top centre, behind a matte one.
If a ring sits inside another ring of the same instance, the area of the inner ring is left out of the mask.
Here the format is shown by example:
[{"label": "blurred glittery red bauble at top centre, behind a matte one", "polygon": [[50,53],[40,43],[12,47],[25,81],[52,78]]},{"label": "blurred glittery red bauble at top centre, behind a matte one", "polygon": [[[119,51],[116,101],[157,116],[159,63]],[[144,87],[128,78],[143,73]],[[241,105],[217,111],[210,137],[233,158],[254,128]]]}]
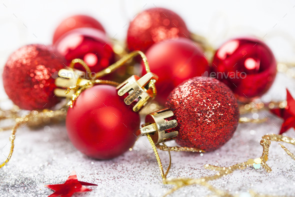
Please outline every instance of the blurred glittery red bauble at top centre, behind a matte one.
[{"label": "blurred glittery red bauble at top centre, behind a matte one", "polygon": [[130,51],[145,52],[154,43],[179,37],[189,38],[184,21],[170,10],[152,8],[139,13],[131,21],[127,45]]}]

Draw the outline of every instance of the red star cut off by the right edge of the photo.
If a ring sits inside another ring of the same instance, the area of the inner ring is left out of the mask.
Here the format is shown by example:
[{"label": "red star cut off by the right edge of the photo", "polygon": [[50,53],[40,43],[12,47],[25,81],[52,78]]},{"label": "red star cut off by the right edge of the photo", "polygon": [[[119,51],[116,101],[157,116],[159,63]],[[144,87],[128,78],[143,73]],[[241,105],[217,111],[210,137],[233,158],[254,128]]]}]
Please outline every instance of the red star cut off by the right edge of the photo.
[{"label": "red star cut off by the right edge of the photo", "polygon": [[287,91],[287,106],[283,109],[271,109],[271,113],[283,118],[284,122],[281,125],[279,134],[286,132],[289,128],[295,128],[295,100]]}]

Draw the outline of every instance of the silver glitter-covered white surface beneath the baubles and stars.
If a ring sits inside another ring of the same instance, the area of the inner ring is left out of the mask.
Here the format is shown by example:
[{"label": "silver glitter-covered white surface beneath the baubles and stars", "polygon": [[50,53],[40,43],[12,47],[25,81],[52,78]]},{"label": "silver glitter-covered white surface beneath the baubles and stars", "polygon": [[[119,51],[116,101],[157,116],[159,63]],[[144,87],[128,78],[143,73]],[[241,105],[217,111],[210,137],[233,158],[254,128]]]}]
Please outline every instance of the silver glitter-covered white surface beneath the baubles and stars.
[{"label": "silver glitter-covered white surface beneath the baubles and stars", "polygon": [[[286,86],[295,96],[293,84],[291,79],[279,74],[264,99],[284,99]],[[3,90],[0,91],[3,95]],[[268,117],[266,122],[240,124],[232,139],[213,152],[172,152],[168,177],[198,178],[212,175],[214,172],[204,169],[204,164],[229,166],[247,161],[248,158],[260,157],[261,136],[278,133],[282,123],[281,119],[269,112],[263,113]],[[4,161],[9,152],[9,134],[9,131],[0,132],[0,161]],[[290,129],[285,135],[295,137],[295,132]],[[282,144],[295,152],[295,146]],[[165,168],[168,153],[159,151],[159,154]],[[295,161],[277,142],[271,142],[267,164],[272,169],[269,173],[263,168],[246,168],[210,181],[210,184],[231,194],[253,190],[259,194],[294,195]],[[44,185],[63,183],[72,170],[76,170],[78,180],[98,184],[87,186],[92,191],[73,196],[162,196],[172,188],[171,185],[161,183],[156,159],[146,137],[138,139],[132,151],[112,160],[99,161],[88,158],[71,145],[64,125],[53,125],[38,130],[23,127],[17,131],[11,160],[0,169],[0,196],[47,196],[53,191]],[[210,194],[206,188],[196,185],[182,187],[170,196]]]}]

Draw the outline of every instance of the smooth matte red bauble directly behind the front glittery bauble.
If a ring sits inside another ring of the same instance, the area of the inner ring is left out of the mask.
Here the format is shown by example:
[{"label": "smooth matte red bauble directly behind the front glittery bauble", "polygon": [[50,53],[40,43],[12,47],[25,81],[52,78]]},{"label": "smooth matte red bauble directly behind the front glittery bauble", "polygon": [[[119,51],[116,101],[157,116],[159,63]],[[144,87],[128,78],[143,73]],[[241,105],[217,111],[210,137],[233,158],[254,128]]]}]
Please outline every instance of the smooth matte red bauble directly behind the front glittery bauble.
[{"label": "smooth matte red bauble directly behind the front glittery bauble", "polygon": [[203,74],[208,76],[210,72],[201,50],[192,41],[184,38],[156,43],[147,50],[146,57],[151,72],[159,77],[155,84],[156,100],[161,104],[165,103],[170,92],[184,80]]}]

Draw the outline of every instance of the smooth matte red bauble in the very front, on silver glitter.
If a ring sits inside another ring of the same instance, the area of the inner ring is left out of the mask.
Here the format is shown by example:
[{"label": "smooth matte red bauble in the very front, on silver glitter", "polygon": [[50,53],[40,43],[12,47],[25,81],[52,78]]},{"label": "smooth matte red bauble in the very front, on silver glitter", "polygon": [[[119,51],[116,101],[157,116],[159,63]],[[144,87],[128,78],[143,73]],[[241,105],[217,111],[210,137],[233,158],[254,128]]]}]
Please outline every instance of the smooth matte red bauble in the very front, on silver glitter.
[{"label": "smooth matte red bauble in the very front, on silver glitter", "polygon": [[139,115],[125,105],[110,85],[96,85],[83,91],[69,108],[66,130],[70,141],[82,153],[97,159],[111,159],[135,142]]}]

